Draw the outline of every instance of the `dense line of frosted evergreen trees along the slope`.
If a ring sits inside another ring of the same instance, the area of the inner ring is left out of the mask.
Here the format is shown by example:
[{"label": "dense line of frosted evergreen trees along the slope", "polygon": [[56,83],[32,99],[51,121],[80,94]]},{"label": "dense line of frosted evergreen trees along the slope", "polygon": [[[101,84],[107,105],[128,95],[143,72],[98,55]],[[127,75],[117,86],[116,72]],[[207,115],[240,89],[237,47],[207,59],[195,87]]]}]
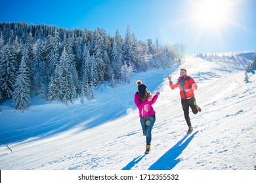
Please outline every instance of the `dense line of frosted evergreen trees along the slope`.
[{"label": "dense line of frosted evergreen trees along the slope", "polygon": [[184,44],[137,40],[129,25],[125,37],[98,28],[65,29],[24,22],[0,23],[0,103],[13,99],[26,110],[32,92],[68,104],[93,99],[94,88],[130,82],[134,72],[170,68],[184,58]]}]

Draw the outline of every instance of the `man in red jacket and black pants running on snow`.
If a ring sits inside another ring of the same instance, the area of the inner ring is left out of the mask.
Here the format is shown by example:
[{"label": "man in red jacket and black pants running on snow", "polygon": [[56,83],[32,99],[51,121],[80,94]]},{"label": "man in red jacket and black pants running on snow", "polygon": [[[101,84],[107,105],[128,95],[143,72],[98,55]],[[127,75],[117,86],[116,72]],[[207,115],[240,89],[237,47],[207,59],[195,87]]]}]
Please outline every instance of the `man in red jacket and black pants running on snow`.
[{"label": "man in red jacket and black pants running on snow", "polygon": [[198,88],[193,78],[186,75],[186,69],[181,69],[180,77],[176,84],[171,81],[171,76],[168,76],[169,85],[171,89],[179,88],[181,90],[181,105],[184,111],[184,117],[186,124],[188,124],[188,132],[193,131],[193,127],[189,118],[189,107],[192,109],[194,114],[201,112],[201,108],[196,105],[196,99],[194,97],[194,90]]}]

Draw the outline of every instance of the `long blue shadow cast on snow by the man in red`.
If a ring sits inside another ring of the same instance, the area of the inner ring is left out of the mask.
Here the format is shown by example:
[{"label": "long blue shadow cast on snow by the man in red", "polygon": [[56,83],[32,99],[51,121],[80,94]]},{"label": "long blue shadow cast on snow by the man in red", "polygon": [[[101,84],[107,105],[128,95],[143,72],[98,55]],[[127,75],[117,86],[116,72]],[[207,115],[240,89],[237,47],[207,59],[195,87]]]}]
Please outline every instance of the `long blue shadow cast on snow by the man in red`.
[{"label": "long blue shadow cast on snow by the man in red", "polygon": [[[173,146],[170,150],[168,150],[165,154],[163,154],[163,156],[161,156],[161,158],[158,159],[158,161],[156,161],[153,165],[151,165],[149,167],[149,170],[173,169],[173,167],[175,167],[181,161],[181,159],[177,159],[178,156],[182,153],[182,151],[186,148],[186,146],[188,146],[188,144],[192,141],[196,133],[198,133],[198,131],[196,131],[188,139],[186,139],[188,135],[184,136],[181,139],[181,141],[177,142],[175,146]],[[186,141],[184,141],[185,139]]]}]

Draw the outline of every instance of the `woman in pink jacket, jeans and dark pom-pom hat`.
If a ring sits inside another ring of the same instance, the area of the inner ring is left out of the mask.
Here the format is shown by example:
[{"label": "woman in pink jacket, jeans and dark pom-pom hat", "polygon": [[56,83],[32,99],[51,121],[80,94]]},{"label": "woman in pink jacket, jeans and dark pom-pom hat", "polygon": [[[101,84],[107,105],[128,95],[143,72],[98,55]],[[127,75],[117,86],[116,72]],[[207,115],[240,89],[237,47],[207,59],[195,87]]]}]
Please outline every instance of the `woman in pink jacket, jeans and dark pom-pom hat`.
[{"label": "woman in pink jacket, jeans and dark pom-pom hat", "polygon": [[138,80],[136,83],[138,84],[139,92],[135,93],[134,101],[139,108],[140,124],[143,135],[146,136],[145,154],[148,154],[150,152],[150,144],[152,139],[151,131],[156,121],[156,112],[152,105],[158,99],[160,92],[156,92],[156,95],[152,97],[152,94],[146,90],[146,85],[142,84],[141,80]]}]

